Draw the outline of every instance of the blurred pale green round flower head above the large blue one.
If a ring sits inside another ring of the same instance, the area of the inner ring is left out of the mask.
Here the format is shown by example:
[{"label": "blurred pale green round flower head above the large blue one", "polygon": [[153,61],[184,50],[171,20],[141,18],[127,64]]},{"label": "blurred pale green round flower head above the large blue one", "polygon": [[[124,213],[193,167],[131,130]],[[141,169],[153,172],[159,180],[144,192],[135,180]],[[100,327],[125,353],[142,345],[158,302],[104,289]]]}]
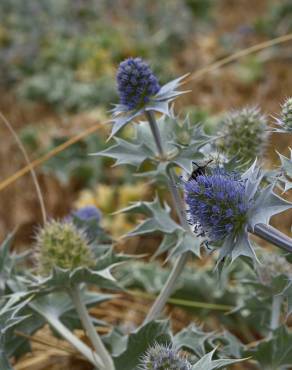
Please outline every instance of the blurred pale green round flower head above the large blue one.
[{"label": "blurred pale green round flower head above the large blue one", "polygon": [[220,149],[229,157],[251,162],[263,155],[267,139],[266,117],[257,108],[243,108],[223,121]]}]

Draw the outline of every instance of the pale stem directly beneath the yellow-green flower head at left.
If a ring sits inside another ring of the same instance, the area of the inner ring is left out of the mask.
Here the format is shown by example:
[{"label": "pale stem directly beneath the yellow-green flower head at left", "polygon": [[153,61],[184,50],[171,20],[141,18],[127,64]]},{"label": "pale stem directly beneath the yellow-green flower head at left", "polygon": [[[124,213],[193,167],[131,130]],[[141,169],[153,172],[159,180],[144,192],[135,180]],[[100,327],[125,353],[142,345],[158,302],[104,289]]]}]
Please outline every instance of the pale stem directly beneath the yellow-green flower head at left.
[{"label": "pale stem directly beneath the yellow-green flower head at left", "polygon": [[95,348],[96,353],[100,356],[103,366],[101,369],[104,370],[115,370],[113,360],[106,350],[100,336],[98,335],[92,320],[88,314],[87,308],[82,301],[80,288],[78,285],[75,285],[70,290],[70,295],[74,303],[75,309],[79,315],[79,318],[82,322],[85,332],[90,338],[93,347]]}]

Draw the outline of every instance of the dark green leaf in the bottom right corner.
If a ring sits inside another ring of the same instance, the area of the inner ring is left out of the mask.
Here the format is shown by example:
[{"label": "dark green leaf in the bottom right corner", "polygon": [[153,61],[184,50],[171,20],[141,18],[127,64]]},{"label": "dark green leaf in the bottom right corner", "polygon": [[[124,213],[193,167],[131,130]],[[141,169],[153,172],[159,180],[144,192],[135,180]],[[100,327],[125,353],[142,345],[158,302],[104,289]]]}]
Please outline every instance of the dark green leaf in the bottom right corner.
[{"label": "dark green leaf in the bottom right corner", "polygon": [[292,334],[281,326],[273,332],[272,338],[262,340],[244,355],[258,361],[261,369],[288,370],[292,363]]}]

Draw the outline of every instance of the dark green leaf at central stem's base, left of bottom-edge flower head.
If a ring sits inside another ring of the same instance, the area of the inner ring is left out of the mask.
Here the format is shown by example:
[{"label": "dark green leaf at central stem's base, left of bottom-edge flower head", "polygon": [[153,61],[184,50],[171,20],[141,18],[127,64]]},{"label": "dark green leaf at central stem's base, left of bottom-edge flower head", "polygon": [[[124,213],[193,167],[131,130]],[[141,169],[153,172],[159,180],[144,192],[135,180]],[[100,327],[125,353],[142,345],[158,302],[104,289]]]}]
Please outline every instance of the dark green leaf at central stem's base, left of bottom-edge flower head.
[{"label": "dark green leaf at central stem's base, left of bottom-edge flower head", "polygon": [[169,343],[170,340],[168,321],[151,321],[143,325],[129,335],[124,351],[114,357],[116,370],[136,369],[141,357],[150,346],[155,343]]}]

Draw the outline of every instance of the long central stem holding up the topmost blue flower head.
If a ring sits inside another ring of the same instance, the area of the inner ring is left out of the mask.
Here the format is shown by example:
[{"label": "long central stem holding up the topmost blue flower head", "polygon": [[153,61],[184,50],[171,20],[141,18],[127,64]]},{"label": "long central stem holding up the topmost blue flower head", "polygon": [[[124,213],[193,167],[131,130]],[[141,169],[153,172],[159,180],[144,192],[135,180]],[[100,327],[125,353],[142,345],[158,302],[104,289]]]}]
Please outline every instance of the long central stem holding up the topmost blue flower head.
[{"label": "long central stem holding up the topmost blue flower head", "polygon": [[[159,155],[161,157],[161,160],[163,160],[165,158],[165,152],[164,152],[164,149],[163,149],[163,143],[162,143],[162,140],[161,140],[159,128],[157,126],[157,122],[155,120],[155,116],[154,116],[152,111],[145,111],[145,115],[146,115],[146,118],[149,122],[150,129],[151,129],[153,138],[155,140]],[[180,221],[181,225],[183,226],[183,228],[186,231],[190,232],[190,228],[189,228],[188,222],[187,222],[186,217],[185,217],[184,204],[183,204],[183,201],[182,201],[181,196],[179,194],[179,191],[177,189],[177,186],[176,186],[176,183],[175,183],[175,175],[174,175],[173,170],[171,168],[168,170],[168,186],[169,186],[169,190],[170,190],[171,195],[172,195],[173,203],[175,205],[175,210],[177,212],[179,221]],[[173,266],[173,269],[172,269],[166,283],[164,284],[164,287],[162,288],[159,296],[156,298],[154,304],[152,305],[151,309],[149,310],[149,312],[148,312],[148,314],[147,314],[147,316],[144,320],[144,324],[148,323],[151,320],[156,319],[160,315],[160,313],[163,310],[167,300],[169,299],[171,293],[174,290],[175,283],[176,283],[179,275],[183,271],[183,269],[184,269],[184,267],[187,263],[189,255],[190,255],[189,252],[185,252],[180,257],[177,258],[177,260],[176,260],[176,262]]]}]

